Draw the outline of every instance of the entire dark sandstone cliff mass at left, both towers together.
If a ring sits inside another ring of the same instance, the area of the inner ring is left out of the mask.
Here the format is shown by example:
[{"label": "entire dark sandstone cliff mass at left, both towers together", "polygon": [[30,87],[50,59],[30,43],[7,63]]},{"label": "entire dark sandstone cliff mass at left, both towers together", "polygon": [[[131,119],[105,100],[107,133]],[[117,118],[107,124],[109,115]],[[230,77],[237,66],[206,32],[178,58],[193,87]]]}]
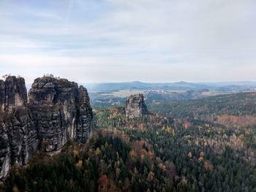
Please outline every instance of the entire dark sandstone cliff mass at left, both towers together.
[{"label": "entire dark sandstone cliff mass at left, both towers together", "polygon": [[91,135],[93,115],[83,86],[37,78],[27,100],[22,77],[0,80],[0,180],[13,164],[27,164],[39,147],[56,151],[70,139],[84,143]]}]

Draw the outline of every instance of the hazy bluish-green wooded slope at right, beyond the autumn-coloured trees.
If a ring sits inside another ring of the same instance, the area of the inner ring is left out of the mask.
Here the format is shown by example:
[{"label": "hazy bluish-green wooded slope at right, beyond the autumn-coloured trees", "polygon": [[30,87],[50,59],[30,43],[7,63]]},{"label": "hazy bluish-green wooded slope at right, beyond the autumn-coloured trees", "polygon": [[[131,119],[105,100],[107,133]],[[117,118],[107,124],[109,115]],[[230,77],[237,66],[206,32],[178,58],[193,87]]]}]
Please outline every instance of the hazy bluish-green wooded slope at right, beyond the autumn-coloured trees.
[{"label": "hazy bluish-green wooded slope at right, beyond the autumn-coloured trees", "polygon": [[203,99],[150,102],[148,107],[173,118],[206,118],[211,115],[255,115],[256,93],[234,93]]}]

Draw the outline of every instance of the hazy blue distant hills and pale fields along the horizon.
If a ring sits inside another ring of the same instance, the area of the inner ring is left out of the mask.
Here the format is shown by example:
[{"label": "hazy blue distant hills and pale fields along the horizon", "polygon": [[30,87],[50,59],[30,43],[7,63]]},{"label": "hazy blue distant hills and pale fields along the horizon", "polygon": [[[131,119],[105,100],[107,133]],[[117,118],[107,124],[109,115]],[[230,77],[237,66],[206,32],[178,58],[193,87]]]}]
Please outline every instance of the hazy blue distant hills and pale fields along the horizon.
[{"label": "hazy blue distant hills and pale fields along the horizon", "polygon": [[256,82],[106,82],[81,85],[88,88],[91,104],[96,108],[124,105],[125,98],[135,93],[143,93],[146,103],[151,104],[256,91]]}]

